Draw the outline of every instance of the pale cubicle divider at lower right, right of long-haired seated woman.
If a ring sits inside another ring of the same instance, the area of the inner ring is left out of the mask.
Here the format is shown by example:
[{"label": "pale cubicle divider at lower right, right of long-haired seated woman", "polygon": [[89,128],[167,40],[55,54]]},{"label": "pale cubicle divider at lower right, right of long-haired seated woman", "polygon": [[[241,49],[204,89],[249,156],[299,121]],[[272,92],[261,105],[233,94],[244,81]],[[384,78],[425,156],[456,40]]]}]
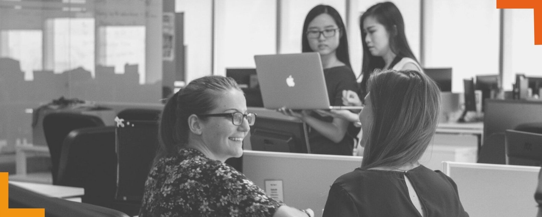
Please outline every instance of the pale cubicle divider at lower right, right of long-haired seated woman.
[{"label": "pale cubicle divider at lower right, right of long-haired seated woman", "polygon": [[443,162],[470,216],[536,216],[540,167]]}]

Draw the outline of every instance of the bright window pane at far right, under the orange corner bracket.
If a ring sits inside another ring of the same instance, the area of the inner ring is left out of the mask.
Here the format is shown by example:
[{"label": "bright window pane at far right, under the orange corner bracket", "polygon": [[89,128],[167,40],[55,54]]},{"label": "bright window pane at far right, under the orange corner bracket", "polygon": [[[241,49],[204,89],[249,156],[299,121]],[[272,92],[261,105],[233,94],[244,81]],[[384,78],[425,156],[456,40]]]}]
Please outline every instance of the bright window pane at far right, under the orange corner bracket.
[{"label": "bright window pane at far right, under the orange corner bracket", "polygon": [[542,76],[542,46],[534,45],[533,9],[504,9],[504,67],[502,87],[509,91],[515,74]]}]

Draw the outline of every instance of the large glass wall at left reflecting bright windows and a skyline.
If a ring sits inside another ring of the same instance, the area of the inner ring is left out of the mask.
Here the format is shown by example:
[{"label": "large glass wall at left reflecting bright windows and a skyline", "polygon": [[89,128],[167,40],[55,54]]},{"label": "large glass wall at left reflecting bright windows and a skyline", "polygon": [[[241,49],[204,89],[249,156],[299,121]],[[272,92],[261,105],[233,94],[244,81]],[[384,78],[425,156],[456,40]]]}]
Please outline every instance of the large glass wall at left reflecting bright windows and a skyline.
[{"label": "large glass wall at left reflecting bright windows and a skyline", "polygon": [[0,151],[32,143],[33,112],[53,99],[158,103],[162,10],[162,0],[0,1]]}]

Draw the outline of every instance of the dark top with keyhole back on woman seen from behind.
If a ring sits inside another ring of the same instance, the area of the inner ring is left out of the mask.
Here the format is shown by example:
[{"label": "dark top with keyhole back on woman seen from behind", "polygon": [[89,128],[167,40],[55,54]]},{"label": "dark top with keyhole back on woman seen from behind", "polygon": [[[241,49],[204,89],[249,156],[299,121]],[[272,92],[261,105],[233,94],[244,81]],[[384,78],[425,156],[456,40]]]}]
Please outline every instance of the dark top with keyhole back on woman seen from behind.
[{"label": "dark top with keyhole back on woman seen from behind", "polygon": [[357,168],[340,176],[331,186],[322,217],[420,216],[410,201],[404,176],[412,183],[426,216],[469,216],[455,182],[439,170],[420,165],[406,172]]}]

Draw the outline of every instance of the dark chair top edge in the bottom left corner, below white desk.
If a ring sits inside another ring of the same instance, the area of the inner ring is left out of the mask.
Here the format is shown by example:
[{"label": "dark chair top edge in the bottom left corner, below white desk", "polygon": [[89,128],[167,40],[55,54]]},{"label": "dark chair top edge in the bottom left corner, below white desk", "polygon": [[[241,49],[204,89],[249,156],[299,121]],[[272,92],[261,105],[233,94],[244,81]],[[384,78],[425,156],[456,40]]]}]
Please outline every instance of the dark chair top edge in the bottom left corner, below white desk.
[{"label": "dark chair top edge in the bottom left corner, below white desk", "polygon": [[44,196],[9,184],[9,208],[45,208],[47,217],[128,217],[114,209]]}]

